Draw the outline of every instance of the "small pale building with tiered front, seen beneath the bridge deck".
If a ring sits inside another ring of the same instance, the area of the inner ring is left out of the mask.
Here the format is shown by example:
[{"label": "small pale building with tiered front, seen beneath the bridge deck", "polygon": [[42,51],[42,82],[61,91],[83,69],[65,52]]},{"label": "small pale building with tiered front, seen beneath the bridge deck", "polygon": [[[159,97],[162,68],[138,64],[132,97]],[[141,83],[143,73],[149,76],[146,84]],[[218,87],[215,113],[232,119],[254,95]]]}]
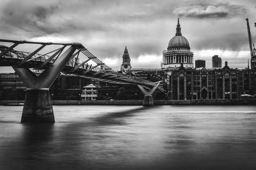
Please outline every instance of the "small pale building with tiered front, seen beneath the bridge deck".
[{"label": "small pale building with tiered front, seen beneath the bridge deck", "polygon": [[98,87],[95,84],[89,84],[83,87],[81,98],[82,100],[97,100]]}]

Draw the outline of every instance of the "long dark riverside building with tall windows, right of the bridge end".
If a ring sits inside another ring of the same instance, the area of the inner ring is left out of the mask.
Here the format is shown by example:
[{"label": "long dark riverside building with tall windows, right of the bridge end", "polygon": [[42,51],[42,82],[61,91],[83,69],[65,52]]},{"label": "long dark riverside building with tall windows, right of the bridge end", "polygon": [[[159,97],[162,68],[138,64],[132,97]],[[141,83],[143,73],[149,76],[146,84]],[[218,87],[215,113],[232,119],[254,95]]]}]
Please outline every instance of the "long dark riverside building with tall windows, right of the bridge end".
[{"label": "long dark riverside building with tall windows, right of the bridge end", "polygon": [[256,70],[230,68],[185,68],[172,70],[170,99],[236,99],[243,94],[256,94]]}]

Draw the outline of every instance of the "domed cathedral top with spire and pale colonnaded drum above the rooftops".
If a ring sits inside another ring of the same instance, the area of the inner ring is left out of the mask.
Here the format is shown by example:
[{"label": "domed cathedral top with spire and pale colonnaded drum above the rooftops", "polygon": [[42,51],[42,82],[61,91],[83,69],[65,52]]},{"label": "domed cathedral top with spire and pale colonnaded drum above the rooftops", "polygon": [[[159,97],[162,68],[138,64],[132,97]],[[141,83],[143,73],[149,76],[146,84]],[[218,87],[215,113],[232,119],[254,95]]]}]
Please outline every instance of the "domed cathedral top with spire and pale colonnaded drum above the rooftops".
[{"label": "domed cathedral top with spire and pale colonnaded drum above the rooftops", "polygon": [[161,68],[175,68],[183,63],[185,67],[193,67],[193,52],[190,51],[188,40],[182,36],[178,19],[176,34],[168,43],[167,50],[163,51]]}]

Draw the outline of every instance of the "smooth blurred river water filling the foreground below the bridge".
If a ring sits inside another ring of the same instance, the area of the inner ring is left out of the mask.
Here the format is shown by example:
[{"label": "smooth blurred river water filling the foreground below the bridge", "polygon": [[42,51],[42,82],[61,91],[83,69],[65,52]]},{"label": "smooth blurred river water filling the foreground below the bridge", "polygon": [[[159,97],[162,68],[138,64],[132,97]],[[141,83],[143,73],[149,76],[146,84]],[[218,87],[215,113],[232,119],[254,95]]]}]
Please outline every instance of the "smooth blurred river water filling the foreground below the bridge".
[{"label": "smooth blurred river water filling the foreground below the bridge", "polygon": [[256,169],[256,106],[0,106],[0,169]]}]

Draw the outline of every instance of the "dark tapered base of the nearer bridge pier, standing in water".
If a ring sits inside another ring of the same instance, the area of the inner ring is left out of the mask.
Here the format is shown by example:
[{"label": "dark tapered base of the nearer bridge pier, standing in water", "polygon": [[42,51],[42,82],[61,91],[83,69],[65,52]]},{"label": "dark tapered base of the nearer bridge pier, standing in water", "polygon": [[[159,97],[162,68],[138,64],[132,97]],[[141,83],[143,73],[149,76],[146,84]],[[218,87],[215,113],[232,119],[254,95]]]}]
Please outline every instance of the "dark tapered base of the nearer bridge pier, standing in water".
[{"label": "dark tapered base of the nearer bridge pier, standing in water", "polygon": [[49,89],[27,89],[21,122],[54,122]]}]

